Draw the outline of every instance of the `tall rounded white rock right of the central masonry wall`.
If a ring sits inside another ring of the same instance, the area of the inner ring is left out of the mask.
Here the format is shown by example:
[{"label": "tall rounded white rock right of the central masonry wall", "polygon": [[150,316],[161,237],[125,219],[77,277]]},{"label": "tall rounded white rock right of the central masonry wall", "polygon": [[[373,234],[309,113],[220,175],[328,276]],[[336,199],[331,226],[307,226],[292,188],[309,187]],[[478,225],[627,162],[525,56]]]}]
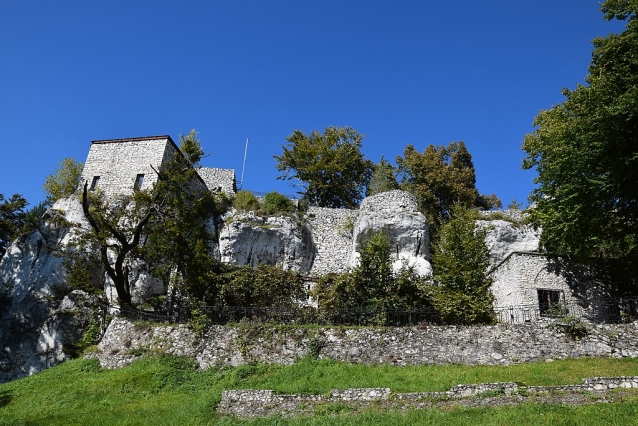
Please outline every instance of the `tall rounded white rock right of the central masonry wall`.
[{"label": "tall rounded white rock right of the central masonry wall", "polygon": [[395,270],[408,265],[421,275],[431,274],[428,222],[412,194],[396,190],[363,200],[354,224],[351,267],[358,264],[361,243],[379,231],[390,239]]}]

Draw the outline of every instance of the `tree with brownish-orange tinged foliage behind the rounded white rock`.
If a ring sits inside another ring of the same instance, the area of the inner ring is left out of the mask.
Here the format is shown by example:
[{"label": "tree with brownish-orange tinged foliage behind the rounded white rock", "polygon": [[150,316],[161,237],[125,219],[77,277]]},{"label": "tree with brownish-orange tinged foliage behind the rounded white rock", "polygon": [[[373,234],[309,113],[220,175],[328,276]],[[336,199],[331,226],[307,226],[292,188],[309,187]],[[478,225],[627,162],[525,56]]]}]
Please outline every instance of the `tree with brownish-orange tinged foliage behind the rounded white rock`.
[{"label": "tree with brownish-orange tinged foliage behind the rounded white rock", "polygon": [[463,141],[447,147],[429,145],[423,153],[408,145],[396,161],[401,187],[419,200],[432,240],[455,204],[488,210],[501,207],[496,195],[480,195],[476,189],[472,156]]}]

